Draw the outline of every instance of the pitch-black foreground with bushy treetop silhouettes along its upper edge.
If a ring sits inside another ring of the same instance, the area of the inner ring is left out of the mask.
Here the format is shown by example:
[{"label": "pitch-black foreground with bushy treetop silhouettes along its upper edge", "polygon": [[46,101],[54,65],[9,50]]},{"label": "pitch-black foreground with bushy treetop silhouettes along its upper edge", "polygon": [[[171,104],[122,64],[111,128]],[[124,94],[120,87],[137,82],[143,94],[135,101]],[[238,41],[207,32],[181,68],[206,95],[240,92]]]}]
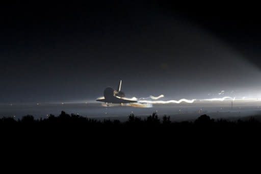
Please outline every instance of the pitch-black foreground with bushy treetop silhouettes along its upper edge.
[{"label": "pitch-black foreground with bushy treetop silhouettes along its upper edge", "polygon": [[168,116],[159,119],[155,113],[146,119],[129,115],[126,122],[98,121],[65,112],[40,120],[31,115],[21,120],[0,119],[1,150],[7,158],[45,157],[54,163],[56,158],[79,163],[81,157],[95,163],[113,162],[114,158],[144,163],[146,159],[154,165],[169,158],[197,161],[203,154],[206,161],[218,157],[224,161],[226,156],[257,155],[260,130],[261,123],[253,117],[226,121],[207,115],[194,122],[171,122]]}]

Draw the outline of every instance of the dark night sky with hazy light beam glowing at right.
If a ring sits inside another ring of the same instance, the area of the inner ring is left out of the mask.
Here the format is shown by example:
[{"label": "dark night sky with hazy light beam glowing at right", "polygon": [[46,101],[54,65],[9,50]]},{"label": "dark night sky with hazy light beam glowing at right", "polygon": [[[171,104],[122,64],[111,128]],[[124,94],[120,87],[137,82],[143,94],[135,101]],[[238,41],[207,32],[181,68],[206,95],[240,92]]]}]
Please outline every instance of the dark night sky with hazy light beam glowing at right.
[{"label": "dark night sky with hazy light beam glowing at right", "polygon": [[119,79],[129,97],[174,99],[261,85],[254,5],[28,2],[0,18],[0,103],[95,100]]}]

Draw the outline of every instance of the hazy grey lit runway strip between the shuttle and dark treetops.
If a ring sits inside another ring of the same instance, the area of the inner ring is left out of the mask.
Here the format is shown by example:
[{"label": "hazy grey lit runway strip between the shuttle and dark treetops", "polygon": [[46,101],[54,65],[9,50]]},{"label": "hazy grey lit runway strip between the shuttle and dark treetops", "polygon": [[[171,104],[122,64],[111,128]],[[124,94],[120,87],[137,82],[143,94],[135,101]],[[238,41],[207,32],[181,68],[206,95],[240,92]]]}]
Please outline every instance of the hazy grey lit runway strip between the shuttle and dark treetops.
[{"label": "hazy grey lit runway strip between the shuttle and dark treetops", "polygon": [[45,118],[49,114],[59,115],[61,111],[69,114],[79,114],[97,119],[126,120],[134,113],[136,116],[146,117],[157,112],[159,117],[171,116],[172,121],[193,120],[202,114],[211,118],[238,119],[246,116],[261,115],[260,101],[231,101],[223,102],[194,102],[192,104],[164,104],[152,107],[110,106],[104,107],[101,103],[31,103],[31,104],[0,104],[0,117],[12,116],[16,119],[30,114],[35,118]]}]

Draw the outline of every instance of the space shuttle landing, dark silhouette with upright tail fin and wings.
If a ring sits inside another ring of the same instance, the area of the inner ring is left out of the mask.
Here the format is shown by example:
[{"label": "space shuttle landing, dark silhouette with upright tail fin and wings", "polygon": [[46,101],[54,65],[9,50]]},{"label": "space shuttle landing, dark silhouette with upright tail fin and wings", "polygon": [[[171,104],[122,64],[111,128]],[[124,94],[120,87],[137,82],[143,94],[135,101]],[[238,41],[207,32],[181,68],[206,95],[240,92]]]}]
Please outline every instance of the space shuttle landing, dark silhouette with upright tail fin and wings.
[{"label": "space shuttle landing, dark silhouette with upright tail fin and wings", "polygon": [[107,103],[107,106],[109,106],[110,103],[113,104],[126,104],[126,103],[136,103],[137,101],[128,100],[125,97],[124,92],[121,91],[121,80],[119,82],[117,90],[114,90],[111,87],[107,87],[103,91],[103,97],[97,98],[97,102],[105,102]]}]

